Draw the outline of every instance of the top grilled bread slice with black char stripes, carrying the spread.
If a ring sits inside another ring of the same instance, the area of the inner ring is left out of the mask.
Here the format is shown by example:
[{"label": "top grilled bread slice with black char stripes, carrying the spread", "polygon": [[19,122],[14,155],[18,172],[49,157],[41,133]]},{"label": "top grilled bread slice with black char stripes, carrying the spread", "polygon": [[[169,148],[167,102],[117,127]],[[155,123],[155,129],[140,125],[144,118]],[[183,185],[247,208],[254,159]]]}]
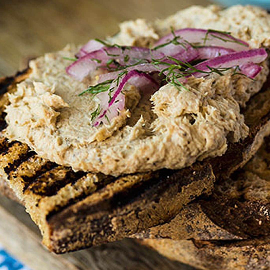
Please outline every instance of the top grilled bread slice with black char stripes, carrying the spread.
[{"label": "top grilled bread slice with black char stripes, carrying the spread", "polygon": [[[5,86],[6,87],[6,86]],[[13,91],[14,83],[8,88]],[[268,95],[270,90],[262,95]],[[160,170],[113,178],[73,172],[38,157],[22,143],[0,141],[2,174],[32,219],[43,243],[56,253],[116,241],[175,216],[183,205],[209,194],[215,180],[242,166],[269,132],[269,104],[255,96],[244,114],[261,102],[250,118],[247,139],[230,144],[226,154],[182,170]],[[268,105],[267,105],[268,104]],[[225,170],[226,169],[226,170]]]}]

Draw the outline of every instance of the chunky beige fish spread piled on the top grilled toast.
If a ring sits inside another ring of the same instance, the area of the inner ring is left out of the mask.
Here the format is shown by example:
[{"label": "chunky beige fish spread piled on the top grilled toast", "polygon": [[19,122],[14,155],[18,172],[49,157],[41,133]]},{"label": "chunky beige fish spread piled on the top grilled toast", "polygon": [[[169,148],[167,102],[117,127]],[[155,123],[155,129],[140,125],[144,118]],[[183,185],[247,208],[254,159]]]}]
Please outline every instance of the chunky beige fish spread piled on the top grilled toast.
[{"label": "chunky beige fish spread piled on the top grilled toast", "polygon": [[[257,48],[270,45],[268,16],[254,7],[222,11],[216,6],[195,6],[163,21],[125,22],[120,33],[107,40],[148,46],[167,34],[170,26],[200,27],[230,30]],[[69,62],[63,57],[74,57],[77,51],[68,45],[30,62],[28,79],[9,94],[5,135],[58,164],[114,176],[180,169],[224,154],[228,141],[247,136],[240,107],[261,89],[268,75],[263,62],[254,80],[229,70],[223,76],[189,77],[181,89],[168,83],[153,94],[143,94],[127,84],[123,90],[125,111],[110,123],[93,126],[91,119],[99,100],[78,94],[95,83],[99,74],[79,81],[65,72]]]}]

